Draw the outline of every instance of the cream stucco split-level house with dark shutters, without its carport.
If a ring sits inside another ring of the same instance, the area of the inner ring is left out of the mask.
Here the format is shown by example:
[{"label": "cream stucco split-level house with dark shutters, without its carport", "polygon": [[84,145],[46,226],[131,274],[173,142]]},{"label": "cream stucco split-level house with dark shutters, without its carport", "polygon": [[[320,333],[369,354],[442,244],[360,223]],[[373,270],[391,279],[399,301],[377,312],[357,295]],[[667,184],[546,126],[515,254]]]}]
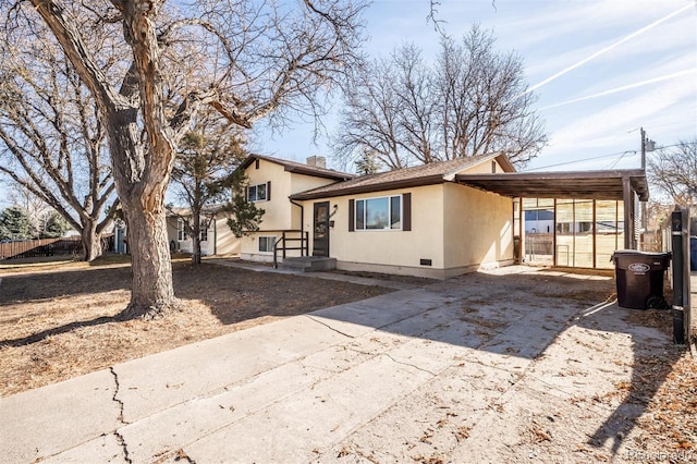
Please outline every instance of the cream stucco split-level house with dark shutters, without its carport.
[{"label": "cream stucco split-level house with dark shutters, without its carport", "polygon": [[286,256],[331,257],[345,270],[445,279],[513,262],[512,199],[455,182],[514,171],[503,155],[359,178],[256,155],[242,169],[266,210],[260,231],[243,239],[243,258],[272,260],[274,243],[279,254],[299,248],[283,241],[296,231],[305,249]]}]

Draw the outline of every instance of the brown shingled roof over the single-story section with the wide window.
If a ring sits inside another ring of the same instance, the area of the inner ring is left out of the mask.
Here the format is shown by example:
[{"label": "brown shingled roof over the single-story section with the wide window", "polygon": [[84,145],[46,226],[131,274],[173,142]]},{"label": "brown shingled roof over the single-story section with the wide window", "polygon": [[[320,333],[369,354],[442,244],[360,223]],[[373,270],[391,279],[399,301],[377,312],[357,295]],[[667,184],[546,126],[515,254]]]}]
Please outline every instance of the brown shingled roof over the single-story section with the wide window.
[{"label": "brown shingled roof over the single-story section with the wide window", "polygon": [[345,182],[338,182],[335,184],[291,195],[291,199],[328,198],[341,195],[441,184],[443,182],[453,181],[456,174],[466,169],[492,159],[497,159],[506,171],[515,170],[504,155],[496,152],[468,158],[457,158],[449,161],[431,162],[424,166],[398,169],[377,174],[362,175]]}]

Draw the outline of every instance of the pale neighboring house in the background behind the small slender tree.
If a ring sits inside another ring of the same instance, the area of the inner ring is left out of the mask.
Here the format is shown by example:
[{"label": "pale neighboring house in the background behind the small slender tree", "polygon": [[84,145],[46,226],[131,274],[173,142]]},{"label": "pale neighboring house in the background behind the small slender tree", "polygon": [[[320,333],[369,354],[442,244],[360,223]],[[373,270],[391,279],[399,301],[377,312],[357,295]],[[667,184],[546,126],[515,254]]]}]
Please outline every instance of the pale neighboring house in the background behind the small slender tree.
[{"label": "pale neighboring house in the background behind the small slender tree", "polygon": [[[186,221],[191,221],[191,210],[173,208],[167,215],[167,235],[172,252],[193,253],[194,244],[186,230]],[[228,215],[220,207],[207,209],[203,215],[200,231],[200,253],[204,256],[239,256],[240,239],[235,237],[228,227]]]}]

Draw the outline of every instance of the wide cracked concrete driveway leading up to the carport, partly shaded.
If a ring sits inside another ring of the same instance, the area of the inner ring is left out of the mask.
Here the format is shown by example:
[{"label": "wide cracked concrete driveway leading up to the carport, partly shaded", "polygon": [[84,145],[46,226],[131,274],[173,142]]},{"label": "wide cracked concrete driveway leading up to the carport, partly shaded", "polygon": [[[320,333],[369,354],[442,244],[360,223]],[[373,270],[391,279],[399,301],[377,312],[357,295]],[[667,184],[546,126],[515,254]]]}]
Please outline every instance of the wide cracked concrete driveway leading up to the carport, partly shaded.
[{"label": "wide cracked concrete driveway leading up to the carport, partly shaded", "polygon": [[592,279],[469,274],[3,398],[0,462],[622,460],[631,415],[591,399],[670,340],[557,296]]}]

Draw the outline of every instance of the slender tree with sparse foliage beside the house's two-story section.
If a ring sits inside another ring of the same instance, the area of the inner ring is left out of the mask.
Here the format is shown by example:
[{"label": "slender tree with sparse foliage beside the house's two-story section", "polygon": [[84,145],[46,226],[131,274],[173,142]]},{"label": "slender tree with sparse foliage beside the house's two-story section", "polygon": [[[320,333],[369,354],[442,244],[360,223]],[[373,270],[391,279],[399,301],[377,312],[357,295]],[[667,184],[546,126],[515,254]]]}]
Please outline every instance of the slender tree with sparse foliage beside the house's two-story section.
[{"label": "slender tree with sparse foliage beside the house's two-story section", "polygon": [[192,237],[192,262],[200,264],[200,232],[213,220],[217,206],[230,202],[232,186],[242,182],[235,168],[245,157],[236,127],[220,117],[209,115],[184,135],[174,168],[171,190],[186,213],[172,211],[184,222]]}]

